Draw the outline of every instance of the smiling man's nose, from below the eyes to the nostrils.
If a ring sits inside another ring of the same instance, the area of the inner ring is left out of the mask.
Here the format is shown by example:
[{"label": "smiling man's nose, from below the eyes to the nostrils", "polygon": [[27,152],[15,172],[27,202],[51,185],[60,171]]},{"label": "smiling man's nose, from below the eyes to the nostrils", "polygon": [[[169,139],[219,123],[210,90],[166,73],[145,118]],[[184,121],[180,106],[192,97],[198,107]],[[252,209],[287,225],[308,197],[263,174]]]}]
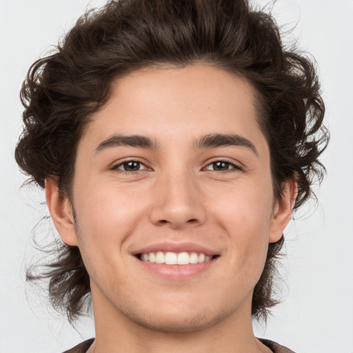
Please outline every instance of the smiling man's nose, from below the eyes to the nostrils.
[{"label": "smiling man's nose, from below the eyes to the nostrils", "polygon": [[155,225],[180,229],[205,222],[202,192],[190,175],[169,174],[161,177],[152,197],[150,221]]}]

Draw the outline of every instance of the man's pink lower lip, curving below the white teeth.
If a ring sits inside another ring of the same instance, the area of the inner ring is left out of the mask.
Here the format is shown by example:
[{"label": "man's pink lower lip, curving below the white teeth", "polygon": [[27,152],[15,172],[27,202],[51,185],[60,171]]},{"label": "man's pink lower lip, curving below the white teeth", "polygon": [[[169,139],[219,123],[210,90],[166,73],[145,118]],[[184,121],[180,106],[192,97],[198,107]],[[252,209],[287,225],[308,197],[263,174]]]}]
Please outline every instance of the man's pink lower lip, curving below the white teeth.
[{"label": "man's pink lower lip, curving below the white teeth", "polygon": [[189,265],[165,265],[165,263],[152,263],[149,261],[139,261],[141,266],[148,272],[157,274],[165,279],[172,279],[174,281],[189,279],[197,274],[208,271],[218,257],[203,263],[190,263]]}]

